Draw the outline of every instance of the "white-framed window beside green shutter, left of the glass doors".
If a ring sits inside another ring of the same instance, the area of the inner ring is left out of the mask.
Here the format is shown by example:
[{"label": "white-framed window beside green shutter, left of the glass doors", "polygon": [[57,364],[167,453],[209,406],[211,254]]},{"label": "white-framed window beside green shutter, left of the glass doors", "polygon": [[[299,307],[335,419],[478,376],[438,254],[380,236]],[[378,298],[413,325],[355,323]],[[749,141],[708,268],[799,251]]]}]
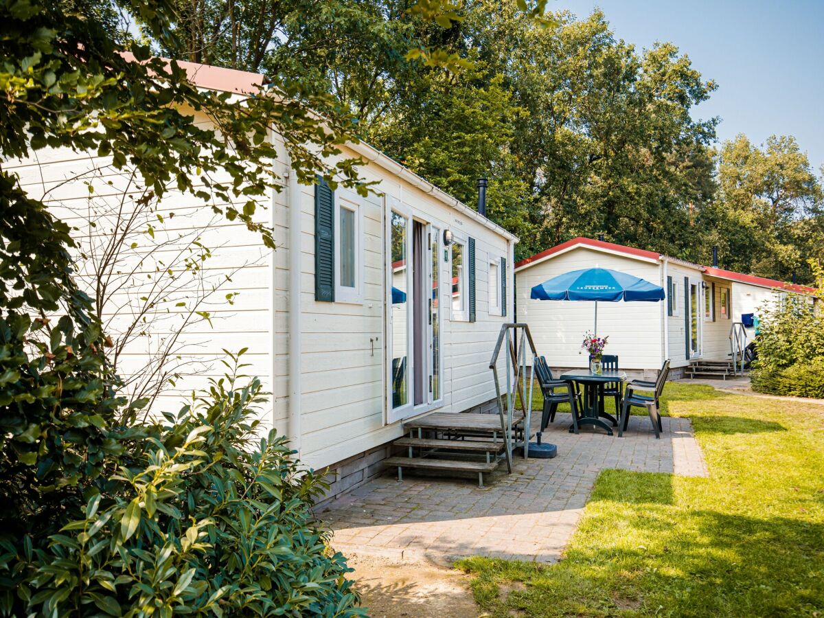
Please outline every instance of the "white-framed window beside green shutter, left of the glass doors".
[{"label": "white-framed window beside green shutter, left of the glass doors", "polygon": [[360,199],[348,190],[335,197],[335,301],[363,302]]}]

